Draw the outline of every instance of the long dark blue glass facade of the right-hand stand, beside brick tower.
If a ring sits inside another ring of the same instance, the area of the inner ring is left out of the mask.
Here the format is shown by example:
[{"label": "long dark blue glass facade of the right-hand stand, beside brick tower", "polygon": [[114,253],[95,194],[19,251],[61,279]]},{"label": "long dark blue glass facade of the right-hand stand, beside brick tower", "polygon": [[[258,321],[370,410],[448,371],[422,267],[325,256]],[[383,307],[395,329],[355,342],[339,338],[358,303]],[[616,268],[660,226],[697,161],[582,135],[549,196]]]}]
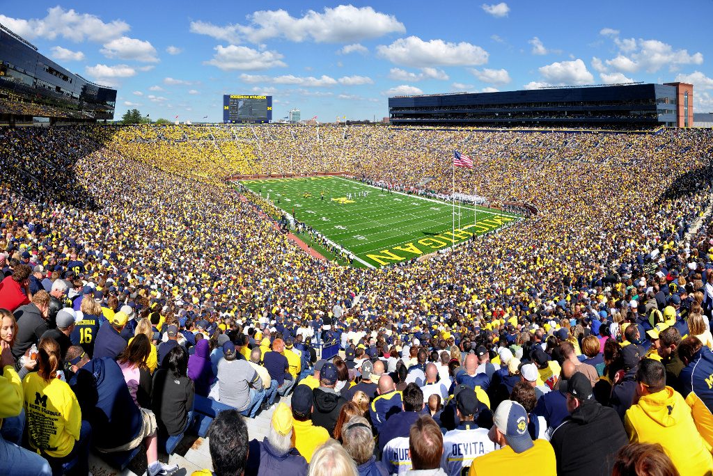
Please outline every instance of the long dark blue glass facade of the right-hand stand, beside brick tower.
[{"label": "long dark blue glass facade of the right-hand stand, beside brick tower", "polygon": [[389,98],[394,125],[675,125],[676,88],[596,86]]}]

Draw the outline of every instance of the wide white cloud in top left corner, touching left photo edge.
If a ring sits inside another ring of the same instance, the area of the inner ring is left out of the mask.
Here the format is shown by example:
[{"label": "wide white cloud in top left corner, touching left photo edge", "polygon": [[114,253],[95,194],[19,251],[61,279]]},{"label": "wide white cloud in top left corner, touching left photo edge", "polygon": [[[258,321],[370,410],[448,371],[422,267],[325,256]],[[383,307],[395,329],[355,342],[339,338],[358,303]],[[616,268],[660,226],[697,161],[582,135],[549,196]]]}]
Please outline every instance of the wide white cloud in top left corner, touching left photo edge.
[{"label": "wide white cloud in top left corner, touching left photo edge", "polygon": [[73,9],[65,10],[55,6],[47,10],[43,19],[14,19],[0,15],[0,23],[20,36],[29,40],[46,38],[54,40],[58,36],[71,41],[84,41],[85,38],[97,43],[106,43],[118,38],[129,30],[125,21],[114,20],[104,23],[98,16],[78,14]]}]

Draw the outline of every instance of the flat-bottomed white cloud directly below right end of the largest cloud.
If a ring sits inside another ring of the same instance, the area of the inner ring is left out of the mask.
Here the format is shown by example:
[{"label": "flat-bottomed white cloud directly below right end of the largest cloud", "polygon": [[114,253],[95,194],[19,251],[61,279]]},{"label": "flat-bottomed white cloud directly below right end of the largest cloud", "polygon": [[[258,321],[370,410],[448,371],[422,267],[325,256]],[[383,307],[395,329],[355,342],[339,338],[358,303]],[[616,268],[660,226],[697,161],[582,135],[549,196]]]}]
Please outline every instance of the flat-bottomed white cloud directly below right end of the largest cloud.
[{"label": "flat-bottomed white cloud directly below right end of the largest cloud", "polygon": [[389,46],[376,47],[379,56],[401,66],[481,66],[488,62],[488,52],[480,46],[461,41],[423,41],[418,36],[399,38]]}]

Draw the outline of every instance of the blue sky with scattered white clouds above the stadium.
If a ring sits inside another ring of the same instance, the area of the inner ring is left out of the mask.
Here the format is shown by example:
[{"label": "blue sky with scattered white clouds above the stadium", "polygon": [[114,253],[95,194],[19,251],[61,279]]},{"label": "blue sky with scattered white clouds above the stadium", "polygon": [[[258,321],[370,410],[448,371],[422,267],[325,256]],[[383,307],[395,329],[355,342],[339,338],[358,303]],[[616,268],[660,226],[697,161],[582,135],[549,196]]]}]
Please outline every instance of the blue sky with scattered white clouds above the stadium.
[{"label": "blue sky with scattered white clouds above the stadium", "polygon": [[[713,0],[0,0],[0,24],[116,87],[115,118],[222,121],[223,94],[320,122],[381,120],[392,95],[694,84],[713,111]],[[207,118],[205,118],[207,116]]]}]

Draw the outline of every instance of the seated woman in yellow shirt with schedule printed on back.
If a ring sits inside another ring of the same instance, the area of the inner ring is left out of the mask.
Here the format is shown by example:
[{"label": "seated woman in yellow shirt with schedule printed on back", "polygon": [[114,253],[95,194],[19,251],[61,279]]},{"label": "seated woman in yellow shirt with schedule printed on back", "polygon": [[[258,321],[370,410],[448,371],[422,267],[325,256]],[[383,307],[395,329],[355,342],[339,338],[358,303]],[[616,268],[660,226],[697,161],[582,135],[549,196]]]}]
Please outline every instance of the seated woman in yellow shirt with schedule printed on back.
[{"label": "seated woman in yellow shirt with schedule printed on back", "polygon": [[86,475],[91,426],[82,421],[77,398],[58,373],[59,353],[57,341],[42,338],[38,371],[22,382],[29,445],[46,458],[53,472]]}]

